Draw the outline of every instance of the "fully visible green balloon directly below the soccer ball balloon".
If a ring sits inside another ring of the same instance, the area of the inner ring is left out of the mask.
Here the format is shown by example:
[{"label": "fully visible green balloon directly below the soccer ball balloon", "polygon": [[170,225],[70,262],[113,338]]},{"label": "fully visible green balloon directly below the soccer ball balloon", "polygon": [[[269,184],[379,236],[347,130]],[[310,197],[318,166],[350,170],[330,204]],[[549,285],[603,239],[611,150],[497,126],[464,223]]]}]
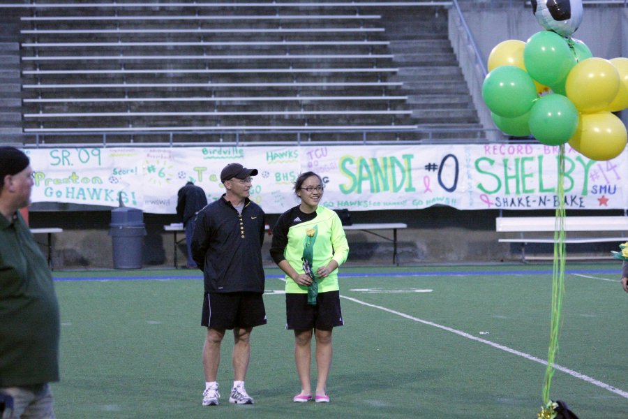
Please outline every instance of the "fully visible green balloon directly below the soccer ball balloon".
[{"label": "fully visible green balloon directly below the soccer ball balloon", "polygon": [[576,55],[565,38],[551,31],[541,31],[525,43],[523,64],[534,80],[552,86],[567,78],[576,65]]}]

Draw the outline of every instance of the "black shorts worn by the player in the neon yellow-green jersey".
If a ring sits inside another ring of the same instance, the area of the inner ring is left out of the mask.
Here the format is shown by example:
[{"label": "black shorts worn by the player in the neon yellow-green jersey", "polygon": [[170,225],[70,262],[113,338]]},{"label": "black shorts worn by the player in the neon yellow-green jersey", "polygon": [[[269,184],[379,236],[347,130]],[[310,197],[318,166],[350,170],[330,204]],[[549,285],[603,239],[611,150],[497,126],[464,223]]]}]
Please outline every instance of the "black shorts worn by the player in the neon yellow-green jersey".
[{"label": "black shorts worn by the player in the neon yellow-green jersey", "polygon": [[315,306],[308,304],[307,294],[287,293],[285,295],[285,321],[287,330],[314,328],[327,330],[344,325],[340,293],[338,291],[319,293]]}]

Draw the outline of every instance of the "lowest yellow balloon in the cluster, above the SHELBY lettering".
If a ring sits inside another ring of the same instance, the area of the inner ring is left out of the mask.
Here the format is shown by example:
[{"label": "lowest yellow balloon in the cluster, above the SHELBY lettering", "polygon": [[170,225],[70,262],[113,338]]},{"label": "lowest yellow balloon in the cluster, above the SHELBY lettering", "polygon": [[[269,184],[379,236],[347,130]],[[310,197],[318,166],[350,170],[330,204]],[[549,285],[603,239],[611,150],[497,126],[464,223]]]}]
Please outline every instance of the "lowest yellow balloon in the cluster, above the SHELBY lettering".
[{"label": "lowest yellow balloon in the cluster, above the SHELBY lettering", "polygon": [[622,154],[628,133],[621,119],[611,112],[581,114],[569,145],[592,160],[611,160]]}]

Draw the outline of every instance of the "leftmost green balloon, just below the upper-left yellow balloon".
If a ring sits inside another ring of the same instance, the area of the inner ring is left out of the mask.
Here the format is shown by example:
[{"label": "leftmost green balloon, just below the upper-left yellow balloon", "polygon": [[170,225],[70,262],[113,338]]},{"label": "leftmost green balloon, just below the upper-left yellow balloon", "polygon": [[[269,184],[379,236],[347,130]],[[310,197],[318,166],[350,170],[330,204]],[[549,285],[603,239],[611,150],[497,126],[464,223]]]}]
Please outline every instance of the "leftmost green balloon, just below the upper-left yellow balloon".
[{"label": "leftmost green balloon, just below the upper-left yellow balloon", "polygon": [[482,98],[495,115],[514,118],[532,108],[537,98],[537,88],[525,70],[515,66],[500,66],[484,79]]}]

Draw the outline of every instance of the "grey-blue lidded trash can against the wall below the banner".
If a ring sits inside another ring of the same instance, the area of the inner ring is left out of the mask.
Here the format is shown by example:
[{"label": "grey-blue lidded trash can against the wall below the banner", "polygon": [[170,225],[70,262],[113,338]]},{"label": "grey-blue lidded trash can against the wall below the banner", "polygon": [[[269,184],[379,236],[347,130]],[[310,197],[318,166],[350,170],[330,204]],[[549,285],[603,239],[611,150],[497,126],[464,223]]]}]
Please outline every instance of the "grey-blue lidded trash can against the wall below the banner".
[{"label": "grey-blue lidded trash can against the wall below the banner", "polygon": [[142,210],[128,207],[113,210],[109,235],[113,241],[114,268],[141,269],[146,235]]}]

